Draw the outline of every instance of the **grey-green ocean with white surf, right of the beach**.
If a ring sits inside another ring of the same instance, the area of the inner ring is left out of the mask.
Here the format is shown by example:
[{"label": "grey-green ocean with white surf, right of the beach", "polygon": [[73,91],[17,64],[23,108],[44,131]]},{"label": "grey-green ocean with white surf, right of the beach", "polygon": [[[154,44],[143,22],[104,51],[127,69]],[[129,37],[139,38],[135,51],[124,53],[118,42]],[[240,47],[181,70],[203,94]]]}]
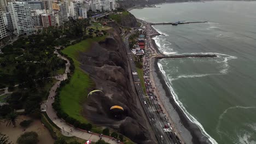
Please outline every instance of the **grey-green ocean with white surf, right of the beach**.
[{"label": "grey-green ocean with white surf, right of the beach", "polygon": [[217,55],[158,62],[176,103],[212,143],[256,143],[256,2],[156,6],[130,12],[148,22],[208,21],[155,25],[162,53]]}]

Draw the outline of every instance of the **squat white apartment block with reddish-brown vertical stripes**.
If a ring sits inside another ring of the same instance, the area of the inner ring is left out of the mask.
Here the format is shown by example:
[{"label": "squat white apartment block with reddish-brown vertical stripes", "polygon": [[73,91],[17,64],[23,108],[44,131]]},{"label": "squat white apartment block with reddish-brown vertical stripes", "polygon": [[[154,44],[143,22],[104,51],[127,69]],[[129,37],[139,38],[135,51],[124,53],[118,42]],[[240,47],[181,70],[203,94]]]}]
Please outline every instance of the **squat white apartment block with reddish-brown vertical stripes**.
[{"label": "squat white apartment block with reddish-brown vertical stripes", "polygon": [[56,17],[52,14],[40,14],[40,23],[43,27],[56,26]]}]

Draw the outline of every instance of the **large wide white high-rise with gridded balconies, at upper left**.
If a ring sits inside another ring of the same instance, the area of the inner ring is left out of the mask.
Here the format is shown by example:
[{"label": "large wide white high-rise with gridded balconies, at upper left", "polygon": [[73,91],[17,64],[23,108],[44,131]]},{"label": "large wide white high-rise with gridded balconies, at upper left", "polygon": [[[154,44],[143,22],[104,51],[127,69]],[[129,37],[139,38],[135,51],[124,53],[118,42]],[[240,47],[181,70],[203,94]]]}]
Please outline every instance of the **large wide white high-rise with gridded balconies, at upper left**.
[{"label": "large wide white high-rise with gridded balconies, at upper left", "polygon": [[15,35],[30,35],[34,32],[31,11],[27,2],[10,2],[8,9]]}]

